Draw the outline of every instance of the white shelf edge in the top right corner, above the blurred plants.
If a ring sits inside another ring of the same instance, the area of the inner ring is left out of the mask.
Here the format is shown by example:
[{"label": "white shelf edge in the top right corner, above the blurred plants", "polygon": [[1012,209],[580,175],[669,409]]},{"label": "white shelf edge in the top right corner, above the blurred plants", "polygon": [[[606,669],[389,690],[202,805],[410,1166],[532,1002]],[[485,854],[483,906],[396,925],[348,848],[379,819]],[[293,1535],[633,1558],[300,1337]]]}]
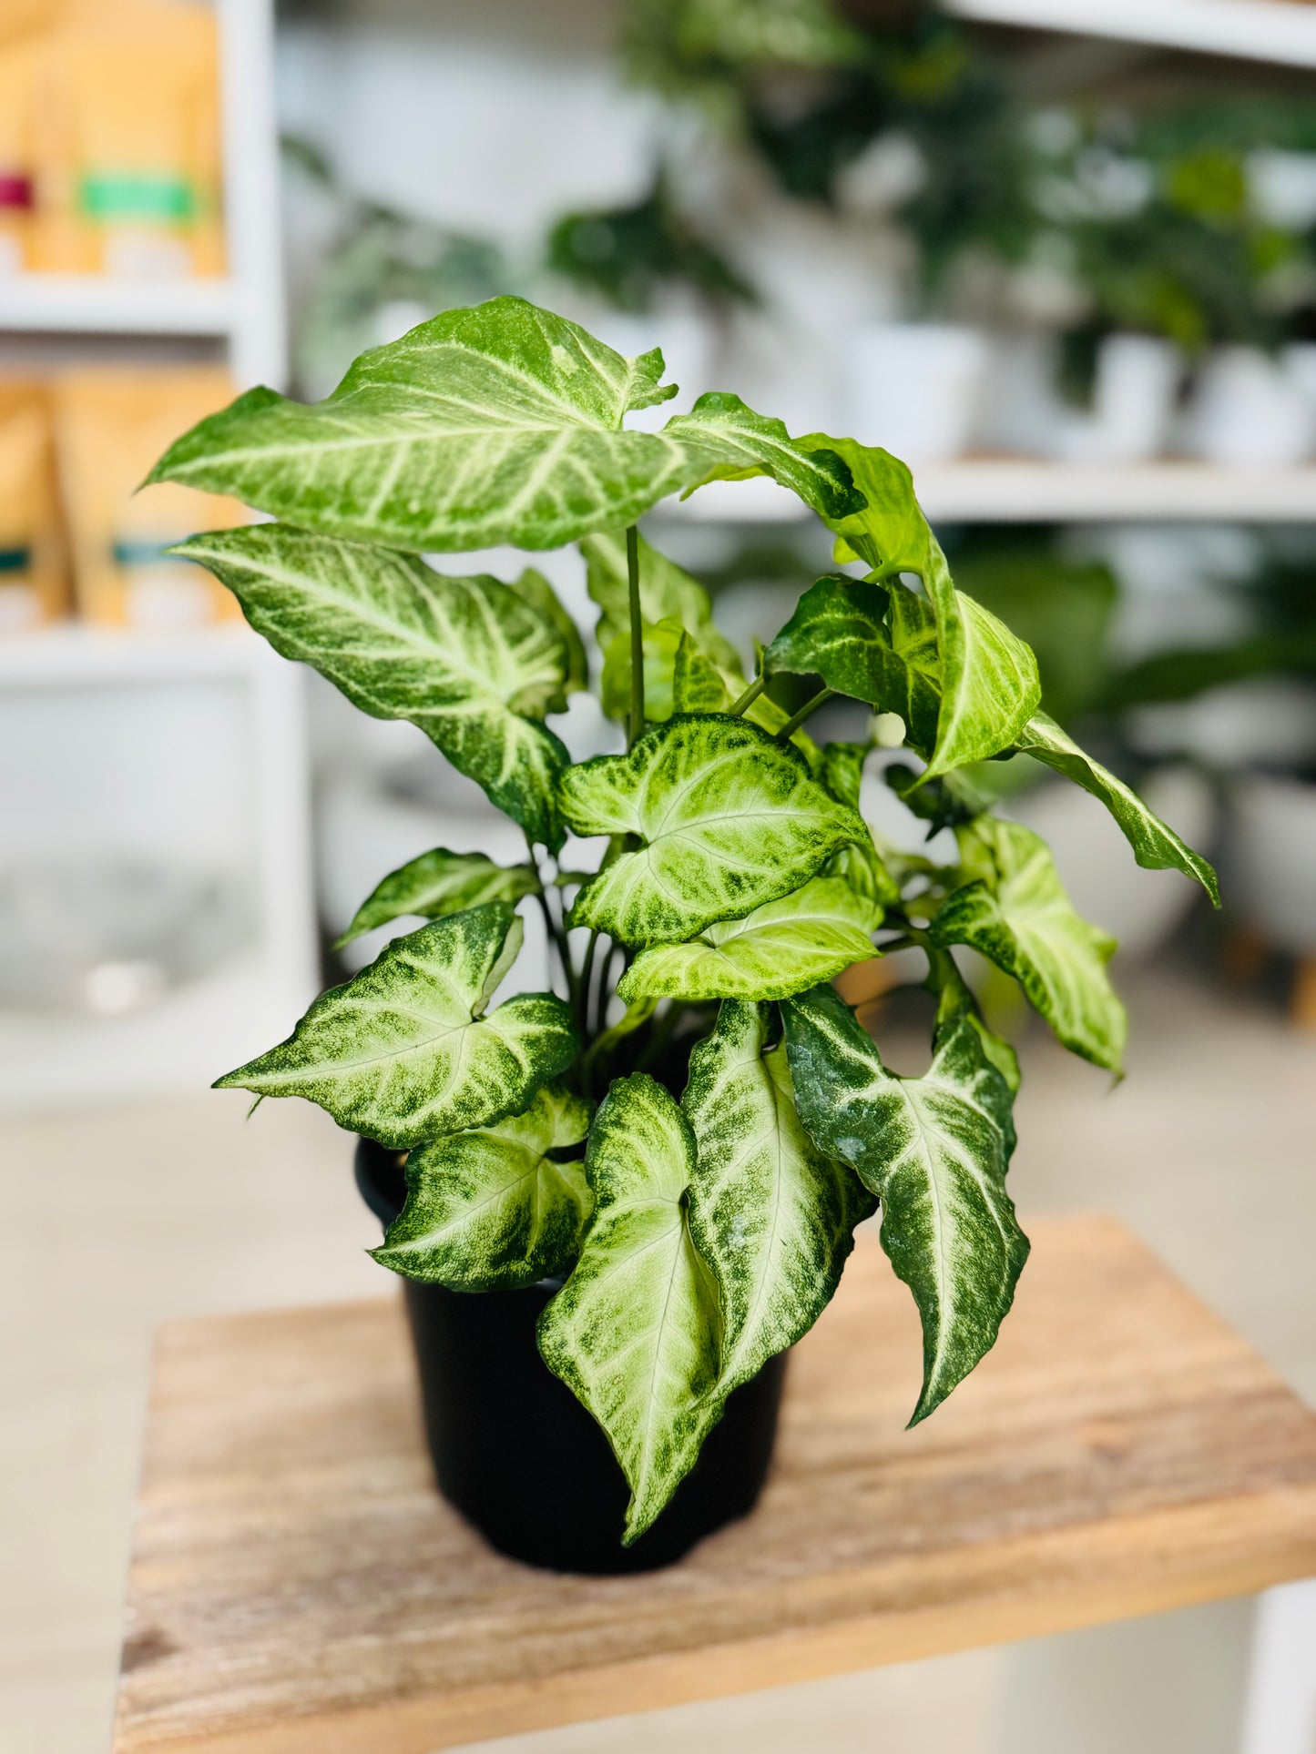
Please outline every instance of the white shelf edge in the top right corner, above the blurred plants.
[{"label": "white shelf edge in the top right corner, above the blurred plants", "polygon": [[1316,67],[1312,0],[948,0],[984,25],[1114,37],[1246,61]]}]

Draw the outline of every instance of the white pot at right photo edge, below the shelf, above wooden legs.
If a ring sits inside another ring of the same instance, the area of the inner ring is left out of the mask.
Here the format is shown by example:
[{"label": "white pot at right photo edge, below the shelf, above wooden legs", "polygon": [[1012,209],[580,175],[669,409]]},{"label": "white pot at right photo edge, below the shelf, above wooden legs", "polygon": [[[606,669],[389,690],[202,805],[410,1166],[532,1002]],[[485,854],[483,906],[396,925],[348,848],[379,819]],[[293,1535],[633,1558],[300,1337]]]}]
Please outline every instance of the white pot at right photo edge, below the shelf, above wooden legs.
[{"label": "white pot at right photo edge, below the shelf, above wooden legs", "polygon": [[1230,903],[1277,949],[1316,952],[1316,786],[1246,774],[1232,805]]}]

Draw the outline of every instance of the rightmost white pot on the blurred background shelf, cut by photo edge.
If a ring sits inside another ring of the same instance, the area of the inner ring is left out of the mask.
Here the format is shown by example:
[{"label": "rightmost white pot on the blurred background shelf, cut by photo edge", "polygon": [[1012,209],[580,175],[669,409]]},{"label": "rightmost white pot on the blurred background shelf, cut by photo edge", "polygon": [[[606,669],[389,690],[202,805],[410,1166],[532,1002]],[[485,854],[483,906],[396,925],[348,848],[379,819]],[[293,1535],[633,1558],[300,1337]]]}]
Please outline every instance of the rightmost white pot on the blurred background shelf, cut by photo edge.
[{"label": "rightmost white pot on the blurred background shelf, cut by photo edge", "polygon": [[1218,347],[1202,367],[1186,446],[1209,463],[1276,468],[1316,442],[1316,407],[1260,347]]}]

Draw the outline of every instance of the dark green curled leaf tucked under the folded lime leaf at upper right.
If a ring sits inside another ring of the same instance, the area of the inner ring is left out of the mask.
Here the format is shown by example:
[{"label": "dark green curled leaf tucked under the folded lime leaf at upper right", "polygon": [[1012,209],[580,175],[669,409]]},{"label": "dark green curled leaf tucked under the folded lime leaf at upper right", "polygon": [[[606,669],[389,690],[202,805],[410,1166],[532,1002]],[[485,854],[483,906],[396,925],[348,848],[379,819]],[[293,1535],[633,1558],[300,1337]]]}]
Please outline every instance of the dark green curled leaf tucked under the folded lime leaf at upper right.
[{"label": "dark green curled leaf tucked under the folded lime leaf at upper right", "polygon": [[890,591],[828,575],[800,598],[763,654],[770,675],[819,675],[828,688],[898,714],[925,756],[937,742],[941,660],[932,605],[904,586]]}]

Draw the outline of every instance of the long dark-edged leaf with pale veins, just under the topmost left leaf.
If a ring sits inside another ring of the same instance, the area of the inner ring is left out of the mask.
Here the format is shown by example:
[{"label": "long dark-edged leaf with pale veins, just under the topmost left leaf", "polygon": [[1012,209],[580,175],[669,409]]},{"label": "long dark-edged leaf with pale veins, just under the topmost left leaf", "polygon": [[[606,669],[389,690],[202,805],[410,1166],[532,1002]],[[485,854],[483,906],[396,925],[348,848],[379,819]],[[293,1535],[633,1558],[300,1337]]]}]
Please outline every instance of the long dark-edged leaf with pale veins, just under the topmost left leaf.
[{"label": "long dark-edged leaf with pale veins, just under the topmost left leaf", "polygon": [[537,721],[567,679],[567,645],[497,579],[451,579],[409,554],[290,524],[191,537],[200,561],[284,658],[309,663],[375,719],[411,719],[533,840],[569,756]]}]

